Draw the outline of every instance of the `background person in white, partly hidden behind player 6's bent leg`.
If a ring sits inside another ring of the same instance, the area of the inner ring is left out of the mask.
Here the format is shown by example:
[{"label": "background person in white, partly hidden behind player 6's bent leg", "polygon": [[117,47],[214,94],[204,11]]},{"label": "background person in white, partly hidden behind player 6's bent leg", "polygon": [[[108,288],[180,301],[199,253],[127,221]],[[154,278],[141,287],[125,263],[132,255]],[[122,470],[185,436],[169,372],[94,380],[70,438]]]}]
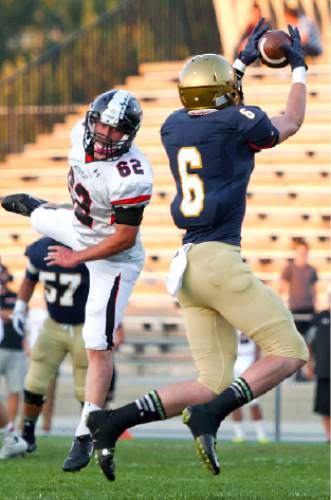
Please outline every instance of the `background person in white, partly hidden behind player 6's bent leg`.
[{"label": "background person in white, partly hidden behind player 6's bent leg", "polygon": [[[247,370],[255,361],[257,361],[260,357],[260,349],[258,346],[246,335],[241,332],[238,332],[238,353],[237,360],[234,365],[234,377],[235,379],[240,377],[241,374]],[[256,437],[259,443],[267,443],[268,439],[265,435],[264,427],[263,427],[263,416],[262,409],[259,404],[258,398],[250,401],[247,406],[249,407],[251,418],[254,422],[254,430],[256,432]],[[235,443],[241,443],[246,440],[245,432],[242,427],[242,409],[237,408],[232,413],[233,420],[233,430],[235,433],[235,437],[233,441]]]}]

